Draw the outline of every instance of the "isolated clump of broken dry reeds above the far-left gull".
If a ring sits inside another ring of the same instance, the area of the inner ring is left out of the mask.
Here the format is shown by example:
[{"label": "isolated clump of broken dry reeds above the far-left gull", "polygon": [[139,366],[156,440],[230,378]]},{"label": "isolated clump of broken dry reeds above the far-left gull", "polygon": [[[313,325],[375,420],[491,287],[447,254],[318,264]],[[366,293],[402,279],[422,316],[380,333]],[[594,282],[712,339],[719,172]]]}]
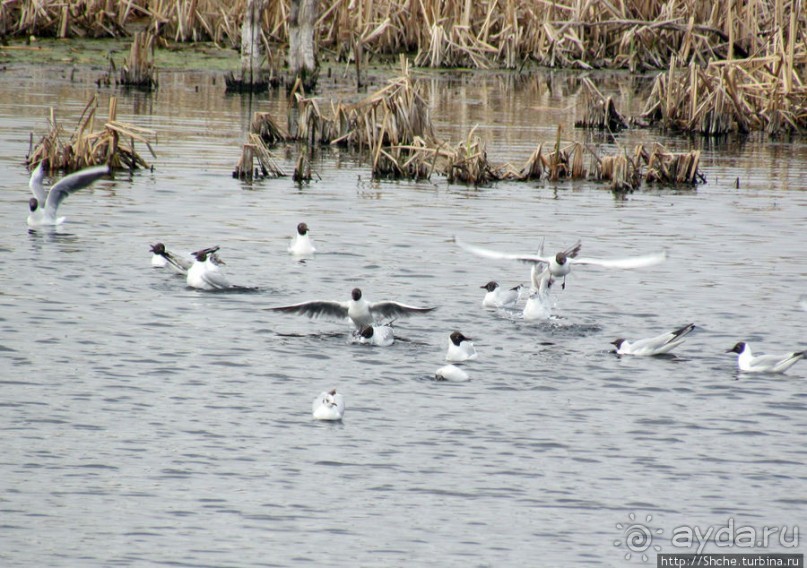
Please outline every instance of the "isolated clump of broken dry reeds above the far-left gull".
[{"label": "isolated clump of broken dry reeds above the far-left gull", "polygon": [[36,145],[32,144],[28,164],[32,166],[47,158],[51,172],[72,172],[97,164],[109,164],[113,169],[149,168],[149,164],[135,150],[135,142],[143,144],[156,157],[149,141],[156,137],[155,132],[118,121],[115,97],[109,99],[109,112],[103,127],[96,130],[97,110],[98,98],[93,96],[75,130],[67,134],[51,109],[49,131]]}]

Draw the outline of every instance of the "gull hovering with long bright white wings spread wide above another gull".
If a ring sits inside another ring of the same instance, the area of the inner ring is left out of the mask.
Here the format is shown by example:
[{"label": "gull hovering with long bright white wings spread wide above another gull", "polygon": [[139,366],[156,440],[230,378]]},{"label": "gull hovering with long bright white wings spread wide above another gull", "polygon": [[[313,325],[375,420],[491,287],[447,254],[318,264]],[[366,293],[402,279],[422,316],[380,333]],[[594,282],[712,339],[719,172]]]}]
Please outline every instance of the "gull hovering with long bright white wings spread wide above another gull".
[{"label": "gull hovering with long bright white wings spread wide above another gull", "polygon": [[[473,253],[477,256],[481,256],[483,258],[493,258],[493,259],[508,259],[508,260],[517,260],[519,262],[526,262],[531,264],[546,264],[549,266],[549,273],[554,276],[555,278],[563,277],[564,282],[561,286],[562,288],[566,287],[566,276],[571,272],[572,265],[574,264],[589,264],[593,266],[601,266],[603,268],[643,268],[645,266],[653,266],[655,264],[659,264],[664,262],[667,259],[666,252],[648,254],[644,256],[632,256],[626,258],[613,258],[613,259],[599,259],[599,258],[578,258],[577,255],[580,252],[580,248],[582,245],[580,241],[577,241],[571,247],[563,250],[554,256],[544,256],[543,252],[532,255],[532,254],[513,254],[513,253],[506,253],[506,252],[499,252],[494,251],[491,249],[478,247],[475,245],[470,245],[454,237],[454,242],[457,245],[467,250],[470,253]],[[541,245],[541,249],[543,250],[543,244]]]}]

